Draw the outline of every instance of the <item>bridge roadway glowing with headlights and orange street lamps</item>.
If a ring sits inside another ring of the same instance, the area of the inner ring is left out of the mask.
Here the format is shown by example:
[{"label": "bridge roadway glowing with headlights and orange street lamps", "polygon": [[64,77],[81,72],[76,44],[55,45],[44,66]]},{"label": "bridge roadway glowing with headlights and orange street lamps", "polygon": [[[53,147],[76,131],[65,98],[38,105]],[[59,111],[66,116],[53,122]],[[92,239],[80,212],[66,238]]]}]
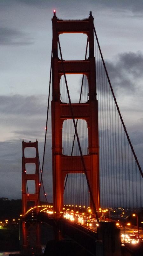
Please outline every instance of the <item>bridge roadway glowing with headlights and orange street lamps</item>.
[{"label": "bridge roadway glowing with headlights and orange street lamps", "polygon": [[[92,214],[91,209],[84,206],[80,208],[78,206],[65,206],[63,207],[63,212],[61,213],[64,218],[60,218],[59,221],[56,221],[53,218],[53,206],[52,205],[43,205],[43,206],[35,206],[29,209],[26,213],[26,220],[36,220],[42,221],[46,224],[53,226],[54,228],[59,225],[65,227],[65,225],[72,226],[74,229],[77,229],[94,237],[94,241],[96,238],[96,232],[99,224],[95,219],[95,216]],[[70,221],[70,222],[69,222]],[[121,232],[121,243],[131,243],[138,244],[139,242],[143,242],[143,231],[140,230],[140,235],[138,235],[138,229],[135,226],[127,226],[126,223],[114,221],[114,220],[106,220],[106,222],[115,222],[117,228],[120,229]],[[100,220],[100,222],[105,222],[105,220]],[[65,224],[64,224],[65,223]],[[78,231],[79,232],[79,231]],[[77,233],[78,233],[77,232]],[[66,233],[66,231],[65,231]],[[84,239],[83,239],[84,240]]]}]

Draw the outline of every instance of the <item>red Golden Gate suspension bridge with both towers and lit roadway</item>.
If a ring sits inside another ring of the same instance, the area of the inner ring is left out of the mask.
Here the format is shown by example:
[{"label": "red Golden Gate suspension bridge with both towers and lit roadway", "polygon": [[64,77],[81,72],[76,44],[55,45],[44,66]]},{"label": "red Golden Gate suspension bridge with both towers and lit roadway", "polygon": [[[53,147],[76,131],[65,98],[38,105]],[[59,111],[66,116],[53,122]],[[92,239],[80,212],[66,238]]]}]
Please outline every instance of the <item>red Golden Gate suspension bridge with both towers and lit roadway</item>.
[{"label": "red Golden Gate suspension bridge with both towers and lit roadway", "polygon": [[[39,161],[38,142],[23,141],[22,251],[24,254],[41,252],[40,222],[42,221],[54,226],[57,239],[61,239],[62,226],[67,236],[70,236],[67,229],[71,233],[78,232],[80,236],[84,232],[83,243],[87,239],[86,233],[90,234],[93,244],[99,237],[101,238],[102,231],[102,236],[106,233],[108,225],[110,234],[114,230],[112,239],[117,247],[110,255],[121,255],[117,245],[120,239],[118,226],[122,230],[123,244],[129,241],[137,244],[142,240],[138,209],[143,205],[143,173],[112,89],[93,20],[92,12],[87,19],[63,20],[58,19],[54,11],[42,166]],[[60,45],[60,35],[63,33],[87,35],[83,60],[63,59]],[[81,75],[81,84],[77,85],[78,93],[72,96],[72,87],[68,86],[67,77],[71,76],[72,83],[73,76],[77,74]],[[48,203],[43,181],[51,81],[53,204]],[[35,157],[25,157],[26,148],[35,148]],[[28,171],[29,164],[34,165],[32,173]],[[39,178],[39,168],[41,178]],[[31,181],[34,182],[32,193],[29,192]],[[113,215],[111,213],[115,212],[115,209],[118,209],[123,217],[125,212],[127,214],[127,209],[134,209],[137,226],[127,226],[124,218],[119,222],[111,220]],[[35,238],[30,235],[33,227],[35,227]],[[129,235],[127,235],[129,238],[125,237],[126,229],[136,230],[138,239],[134,237],[131,239]],[[31,251],[33,239],[35,239],[35,251]],[[111,239],[109,239],[110,243]],[[93,244],[91,244],[92,249],[86,248],[88,255],[98,255],[95,254],[97,249]],[[103,244],[104,246],[106,245]]]}]

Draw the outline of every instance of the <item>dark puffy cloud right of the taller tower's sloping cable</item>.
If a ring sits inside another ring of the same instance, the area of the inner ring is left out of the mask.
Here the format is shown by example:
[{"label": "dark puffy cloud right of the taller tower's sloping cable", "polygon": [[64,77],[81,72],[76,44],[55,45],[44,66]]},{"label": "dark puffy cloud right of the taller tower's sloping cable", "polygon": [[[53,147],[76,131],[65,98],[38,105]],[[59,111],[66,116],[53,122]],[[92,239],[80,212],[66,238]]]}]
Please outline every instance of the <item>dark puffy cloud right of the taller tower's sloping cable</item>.
[{"label": "dark puffy cloud right of the taller tower's sloping cable", "polygon": [[118,54],[114,62],[106,61],[106,67],[113,89],[127,93],[136,91],[143,78],[143,54],[140,51]]}]

